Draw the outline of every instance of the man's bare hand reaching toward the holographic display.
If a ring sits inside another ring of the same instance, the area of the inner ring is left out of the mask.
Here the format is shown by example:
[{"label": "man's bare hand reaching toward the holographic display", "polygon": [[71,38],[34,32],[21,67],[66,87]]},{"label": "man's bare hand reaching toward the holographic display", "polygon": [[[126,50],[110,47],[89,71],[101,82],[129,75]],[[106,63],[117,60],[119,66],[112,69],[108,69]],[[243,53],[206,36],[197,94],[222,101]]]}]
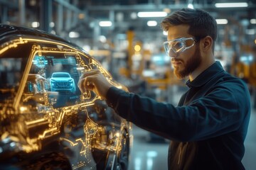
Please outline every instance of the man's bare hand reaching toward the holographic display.
[{"label": "man's bare hand reaching toward the holographic display", "polygon": [[112,87],[109,81],[103,74],[95,69],[90,72],[85,72],[78,81],[78,87],[82,93],[87,90],[95,91],[98,96],[106,99],[107,91]]}]

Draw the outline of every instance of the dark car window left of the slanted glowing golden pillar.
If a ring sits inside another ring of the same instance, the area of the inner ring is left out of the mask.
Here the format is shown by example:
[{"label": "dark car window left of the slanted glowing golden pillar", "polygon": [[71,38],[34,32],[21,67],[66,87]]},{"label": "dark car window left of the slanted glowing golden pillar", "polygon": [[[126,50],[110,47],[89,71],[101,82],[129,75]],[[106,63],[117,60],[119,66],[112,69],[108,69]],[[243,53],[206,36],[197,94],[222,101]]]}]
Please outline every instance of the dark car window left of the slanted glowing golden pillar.
[{"label": "dark car window left of the slanted glowing golden pillar", "polygon": [[[22,51],[21,46],[23,46]],[[0,103],[9,101],[18,94],[28,58],[31,57],[31,46],[31,43],[16,37],[0,44],[0,93],[2,96]]]}]

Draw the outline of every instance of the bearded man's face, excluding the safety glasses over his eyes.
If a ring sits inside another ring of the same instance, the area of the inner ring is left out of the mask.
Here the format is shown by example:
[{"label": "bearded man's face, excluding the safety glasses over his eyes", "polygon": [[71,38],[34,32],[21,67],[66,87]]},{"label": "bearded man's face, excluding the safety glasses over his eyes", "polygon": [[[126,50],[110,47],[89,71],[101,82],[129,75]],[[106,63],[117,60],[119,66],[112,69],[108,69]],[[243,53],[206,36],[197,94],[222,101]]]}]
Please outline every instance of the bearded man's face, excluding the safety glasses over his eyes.
[{"label": "bearded man's face, excluding the safety glasses over his eyes", "polygon": [[[168,30],[168,40],[176,38],[191,38],[188,34],[189,26],[172,26]],[[171,50],[170,50],[171,51]],[[183,79],[191,74],[201,64],[201,51],[198,43],[183,52],[169,52],[171,63],[174,66],[174,73],[179,79]]]}]

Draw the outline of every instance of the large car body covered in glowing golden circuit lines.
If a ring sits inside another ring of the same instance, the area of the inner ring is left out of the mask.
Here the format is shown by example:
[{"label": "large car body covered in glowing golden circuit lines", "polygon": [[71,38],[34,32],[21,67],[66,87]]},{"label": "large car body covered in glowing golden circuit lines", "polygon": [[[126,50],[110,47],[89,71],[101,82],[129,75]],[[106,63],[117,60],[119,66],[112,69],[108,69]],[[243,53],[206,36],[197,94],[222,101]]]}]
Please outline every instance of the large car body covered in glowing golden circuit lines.
[{"label": "large car body covered in glowing golden circuit lines", "polygon": [[[90,69],[125,89],[77,45],[0,25],[1,169],[127,169],[131,125],[93,91],[80,93]],[[60,72],[72,77],[68,91],[53,87]]]}]

